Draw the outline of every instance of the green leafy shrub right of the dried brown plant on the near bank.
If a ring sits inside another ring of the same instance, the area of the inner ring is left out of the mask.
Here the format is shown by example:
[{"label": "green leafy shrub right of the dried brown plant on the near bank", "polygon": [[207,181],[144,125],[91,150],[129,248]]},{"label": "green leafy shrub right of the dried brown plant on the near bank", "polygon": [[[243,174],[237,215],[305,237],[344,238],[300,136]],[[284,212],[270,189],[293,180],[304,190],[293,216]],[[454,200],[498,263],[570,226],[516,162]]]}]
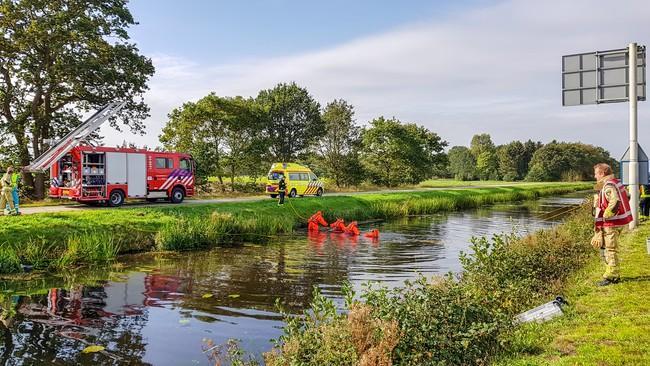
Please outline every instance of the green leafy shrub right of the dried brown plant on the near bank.
[{"label": "green leafy shrub right of the dried brown plant on the near bank", "polygon": [[482,363],[508,324],[451,276],[432,282],[419,277],[404,288],[370,289],[363,297],[380,318],[399,324],[401,337],[392,354],[396,365]]}]

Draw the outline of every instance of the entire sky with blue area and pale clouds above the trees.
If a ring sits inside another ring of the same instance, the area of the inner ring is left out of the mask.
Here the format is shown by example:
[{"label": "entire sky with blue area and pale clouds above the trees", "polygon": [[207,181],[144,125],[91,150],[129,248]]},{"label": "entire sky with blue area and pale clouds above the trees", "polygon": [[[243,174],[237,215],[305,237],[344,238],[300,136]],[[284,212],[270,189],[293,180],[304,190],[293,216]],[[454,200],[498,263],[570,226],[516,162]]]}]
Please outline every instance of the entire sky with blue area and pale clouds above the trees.
[{"label": "entire sky with blue area and pale clouds above the trees", "polygon": [[[153,1],[129,4],[130,30],[156,74],[147,134],[102,128],[107,144],[158,145],[167,113],[210,92],[255,96],[295,81],[365,124],[415,122],[453,145],[489,133],[582,141],[618,157],[628,107],[561,106],[561,56],[650,44],[647,0]],[[639,141],[650,144],[650,102]],[[646,146],[650,151],[650,146]]]}]

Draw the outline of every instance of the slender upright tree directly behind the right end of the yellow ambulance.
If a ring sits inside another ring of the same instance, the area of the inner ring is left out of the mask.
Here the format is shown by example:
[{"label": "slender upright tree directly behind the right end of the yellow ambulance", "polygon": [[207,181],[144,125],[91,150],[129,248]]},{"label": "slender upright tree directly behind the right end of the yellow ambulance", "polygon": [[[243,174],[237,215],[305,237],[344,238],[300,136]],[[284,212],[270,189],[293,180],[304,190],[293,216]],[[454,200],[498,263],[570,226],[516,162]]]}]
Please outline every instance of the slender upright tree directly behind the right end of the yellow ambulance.
[{"label": "slender upright tree directly behind the right end of the yellow ambulance", "polygon": [[343,99],[327,104],[322,115],[325,132],[318,140],[318,159],[337,187],[358,182],[361,129],[354,121],[354,107]]}]

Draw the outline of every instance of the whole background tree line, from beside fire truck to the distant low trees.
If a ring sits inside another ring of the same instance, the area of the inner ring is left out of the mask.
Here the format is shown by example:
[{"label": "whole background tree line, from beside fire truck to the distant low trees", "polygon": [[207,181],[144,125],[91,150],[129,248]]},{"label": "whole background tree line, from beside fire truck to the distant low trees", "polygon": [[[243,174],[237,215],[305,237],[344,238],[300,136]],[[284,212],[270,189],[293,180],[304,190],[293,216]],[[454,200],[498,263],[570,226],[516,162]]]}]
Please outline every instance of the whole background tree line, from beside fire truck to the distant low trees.
[{"label": "whole background tree line, from beside fire truck to the distant low trees", "polygon": [[383,116],[366,126],[354,107],[335,99],[322,107],[307,89],[280,83],[256,97],[211,93],[174,109],[160,135],[166,149],[192,153],[200,177],[233,187],[241,175],[262,176],[271,162],[300,162],[338,187],[362,182],[393,187],[436,177],[457,180],[571,181],[592,179],[597,162],[617,163],[600,147],[579,142],[512,141],[489,134],[453,146],[416,123]]}]

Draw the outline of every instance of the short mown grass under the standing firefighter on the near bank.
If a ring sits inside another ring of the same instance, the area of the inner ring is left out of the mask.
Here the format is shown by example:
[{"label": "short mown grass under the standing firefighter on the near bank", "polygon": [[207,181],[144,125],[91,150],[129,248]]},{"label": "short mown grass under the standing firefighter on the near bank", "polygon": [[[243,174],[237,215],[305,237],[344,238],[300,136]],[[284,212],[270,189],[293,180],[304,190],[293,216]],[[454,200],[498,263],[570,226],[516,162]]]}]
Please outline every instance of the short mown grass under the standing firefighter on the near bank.
[{"label": "short mown grass under the standing firefighter on the near bank", "polygon": [[500,365],[650,365],[650,223],[621,240],[621,283],[597,287],[594,258],[565,292],[566,316],[522,329]]}]

